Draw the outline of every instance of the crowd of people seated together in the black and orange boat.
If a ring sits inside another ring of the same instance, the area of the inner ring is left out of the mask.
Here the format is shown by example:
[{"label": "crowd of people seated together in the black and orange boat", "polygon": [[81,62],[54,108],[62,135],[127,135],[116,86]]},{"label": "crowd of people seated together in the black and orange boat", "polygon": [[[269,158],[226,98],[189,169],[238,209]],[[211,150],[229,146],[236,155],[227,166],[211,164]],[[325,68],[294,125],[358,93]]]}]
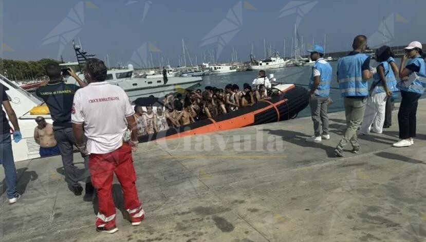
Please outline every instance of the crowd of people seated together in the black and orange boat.
[{"label": "crowd of people seated together in the black and orange boat", "polygon": [[253,90],[248,83],[244,83],[242,91],[237,84],[227,84],[225,89],[208,86],[203,92],[198,89],[184,97],[170,93],[158,107],[135,106],[139,136],[214,118],[269,98],[264,84]]}]

